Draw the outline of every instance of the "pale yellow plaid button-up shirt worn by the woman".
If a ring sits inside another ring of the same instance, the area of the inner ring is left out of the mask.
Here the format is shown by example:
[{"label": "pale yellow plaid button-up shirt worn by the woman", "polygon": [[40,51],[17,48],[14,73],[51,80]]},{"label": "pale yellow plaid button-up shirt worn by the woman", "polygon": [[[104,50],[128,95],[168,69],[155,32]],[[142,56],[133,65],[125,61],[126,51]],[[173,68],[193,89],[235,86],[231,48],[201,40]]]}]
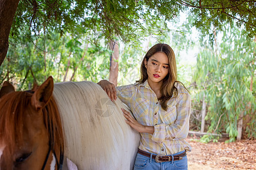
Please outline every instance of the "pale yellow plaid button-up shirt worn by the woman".
[{"label": "pale yellow plaid button-up shirt worn by the woman", "polygon": [[147,80],[139,85],[116,87],[117,96],[133,112],[136,120],[154,126],[154,134],[141,133],[139,149],[153,154],[171,155],[180,151],[191,151],[185,138],[188,135],[191,99],[179,83],[175,83],[177,97],[172,97],[164,111]]}]

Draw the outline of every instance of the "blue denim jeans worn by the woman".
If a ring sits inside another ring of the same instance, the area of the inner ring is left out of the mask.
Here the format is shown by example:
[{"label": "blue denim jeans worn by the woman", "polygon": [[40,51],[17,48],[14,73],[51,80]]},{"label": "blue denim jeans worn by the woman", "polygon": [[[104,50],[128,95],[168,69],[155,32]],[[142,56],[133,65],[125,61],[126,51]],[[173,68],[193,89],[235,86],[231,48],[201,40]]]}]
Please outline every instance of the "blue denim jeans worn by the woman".
[{"label": "blue denim jeans worn by the woman", "polygon": [[[184,151],[177,152],[175,155],[181,154]],[[143,156],[141,154],[137,153],[135,163],[134,163],[134,170],[137,169],[148,169],[148,170],[173,170],[173,169],[188,169],[188,159],[187,156],[184,156],[183,159],[181,160],[176,160],[176,161],[170,161],[170,162],[162,162],[162,163],[157,163],[155,162],[155,159],[148,158],[147,156]],[[171,156],[171,155],[168,155]]]}]

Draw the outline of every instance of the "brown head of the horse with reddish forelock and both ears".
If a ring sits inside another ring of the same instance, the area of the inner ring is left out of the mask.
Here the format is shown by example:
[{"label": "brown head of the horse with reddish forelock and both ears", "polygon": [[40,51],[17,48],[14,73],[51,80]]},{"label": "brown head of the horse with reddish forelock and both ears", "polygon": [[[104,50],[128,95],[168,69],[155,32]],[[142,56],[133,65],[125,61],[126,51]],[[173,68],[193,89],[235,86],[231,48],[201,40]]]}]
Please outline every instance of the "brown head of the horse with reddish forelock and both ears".
[{"label": "brown head of the horse with reddish forelock and both ears", "polygon": [[[5,82],[0,90],[0,169],[57,168],[63,133],[52,97],[53,80],[34,92],[15,92]],[[53,155],[56,156],[53,156]]]}]

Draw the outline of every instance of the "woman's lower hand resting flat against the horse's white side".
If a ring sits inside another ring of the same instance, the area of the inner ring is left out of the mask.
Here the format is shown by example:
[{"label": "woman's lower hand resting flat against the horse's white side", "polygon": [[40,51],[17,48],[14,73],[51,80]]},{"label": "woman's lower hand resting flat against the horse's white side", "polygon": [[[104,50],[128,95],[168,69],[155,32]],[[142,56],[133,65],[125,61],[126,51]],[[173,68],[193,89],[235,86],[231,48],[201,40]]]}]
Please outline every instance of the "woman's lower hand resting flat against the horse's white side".
[{"label": "woman's lower hand resting flat against the horse's white side", "polygon": [[150,133],[150,134],[154,133],[154,126],[144,126],[142,124],[139,124],[139,122],[135,120],[135,118],[133,118],[133,116],[131,116],[131,114],[128,111],[126,111],[123,108],[122,108],[122,111],[123,111],[123,116],[127,118],[127,120],[125,120],[126,124],[130,125],[131,128],[135,129],[139,133],[142,133],[142,132]]}]

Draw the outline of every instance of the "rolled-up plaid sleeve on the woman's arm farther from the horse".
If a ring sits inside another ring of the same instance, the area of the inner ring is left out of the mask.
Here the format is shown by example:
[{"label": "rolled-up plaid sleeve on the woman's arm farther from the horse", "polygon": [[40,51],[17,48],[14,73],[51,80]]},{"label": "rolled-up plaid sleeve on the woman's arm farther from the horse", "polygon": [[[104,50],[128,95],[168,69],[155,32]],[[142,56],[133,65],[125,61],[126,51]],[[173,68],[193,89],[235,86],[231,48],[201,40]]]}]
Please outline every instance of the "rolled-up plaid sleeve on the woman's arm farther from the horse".
[{"label": "rolled-up plaid sleeve on the woman's arm farther from the horse", "polygon": [[191,114],[191,97],[188,93],[182,93],[179,95],[178,101],[176,104],[177,118],[174,124],[155,125],[152,141],[162,143],[165,139],[180,140],[187,138]]}]

